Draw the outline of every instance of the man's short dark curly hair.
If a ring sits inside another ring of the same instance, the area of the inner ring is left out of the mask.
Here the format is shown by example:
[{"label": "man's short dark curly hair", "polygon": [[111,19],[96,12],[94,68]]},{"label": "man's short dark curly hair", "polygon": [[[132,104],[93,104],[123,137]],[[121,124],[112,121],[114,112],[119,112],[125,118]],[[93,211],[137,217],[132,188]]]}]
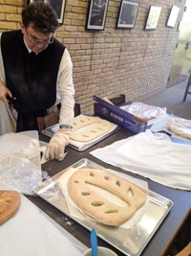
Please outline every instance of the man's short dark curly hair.
[{"label": "man's short dark curly hair", "polygon": [[55,12],[45,3],[32,3],[24,8],[22,21],[26,28],[32,23],[32,28],[43,34],[54,33],[58,27]]}]

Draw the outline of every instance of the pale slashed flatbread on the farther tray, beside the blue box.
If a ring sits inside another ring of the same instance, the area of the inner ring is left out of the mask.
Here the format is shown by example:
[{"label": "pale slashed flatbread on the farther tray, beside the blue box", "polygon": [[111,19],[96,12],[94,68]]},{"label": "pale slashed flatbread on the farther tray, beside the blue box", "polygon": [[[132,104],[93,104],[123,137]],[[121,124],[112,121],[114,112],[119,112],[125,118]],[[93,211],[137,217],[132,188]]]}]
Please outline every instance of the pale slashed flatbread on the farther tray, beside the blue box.
[{"label": "pale slashed flatbread on the farther tray, beside the blue box", "polygon": [[[92,126],[90,126],[92,125]],[[89,128],[86,128],[90,126]],[[80,128],[84,130],[77,132]],[[79,116],[74,119],[71,139],[79,142],[89,142],[105,134],[112,128],[112,124],[99,117]]]}]

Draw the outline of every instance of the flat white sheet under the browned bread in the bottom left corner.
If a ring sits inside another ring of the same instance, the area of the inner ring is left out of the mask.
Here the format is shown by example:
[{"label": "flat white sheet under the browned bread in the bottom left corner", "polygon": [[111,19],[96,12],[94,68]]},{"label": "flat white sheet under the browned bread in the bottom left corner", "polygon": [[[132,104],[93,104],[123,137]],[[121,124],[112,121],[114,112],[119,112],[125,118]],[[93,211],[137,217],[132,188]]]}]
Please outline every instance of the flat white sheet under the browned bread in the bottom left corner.
[{"label": "flat white sheet under the browned bread in the bottom left corner", "polygon": [[0,228],[1,256],[80,256],[87,249],[28,198]]}]

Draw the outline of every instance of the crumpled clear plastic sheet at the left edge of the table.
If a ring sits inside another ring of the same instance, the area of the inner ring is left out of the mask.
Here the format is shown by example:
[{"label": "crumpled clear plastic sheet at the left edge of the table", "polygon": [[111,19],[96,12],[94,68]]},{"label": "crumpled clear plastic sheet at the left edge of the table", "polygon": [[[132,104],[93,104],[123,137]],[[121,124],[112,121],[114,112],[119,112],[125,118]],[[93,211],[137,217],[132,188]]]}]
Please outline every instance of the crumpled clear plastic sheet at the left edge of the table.
[{"label": "crumpled clear plastic sheet at the left edge of the table", "polygon": [[42,182],[40,153],[35,130],[0,136],[0,190],[33,195]]}]

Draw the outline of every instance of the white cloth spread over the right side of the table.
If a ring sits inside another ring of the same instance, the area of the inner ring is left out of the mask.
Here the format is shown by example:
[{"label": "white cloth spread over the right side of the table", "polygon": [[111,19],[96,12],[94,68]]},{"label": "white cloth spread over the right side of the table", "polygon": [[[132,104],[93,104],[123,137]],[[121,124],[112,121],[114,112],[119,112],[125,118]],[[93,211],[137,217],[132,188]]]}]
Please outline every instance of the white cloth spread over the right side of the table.
[{"label": "white cloth spread over the right side of the table", "polygon": [[163,185],[191,190],[191,147],[149,129],[90,152],[98,159]]}]

